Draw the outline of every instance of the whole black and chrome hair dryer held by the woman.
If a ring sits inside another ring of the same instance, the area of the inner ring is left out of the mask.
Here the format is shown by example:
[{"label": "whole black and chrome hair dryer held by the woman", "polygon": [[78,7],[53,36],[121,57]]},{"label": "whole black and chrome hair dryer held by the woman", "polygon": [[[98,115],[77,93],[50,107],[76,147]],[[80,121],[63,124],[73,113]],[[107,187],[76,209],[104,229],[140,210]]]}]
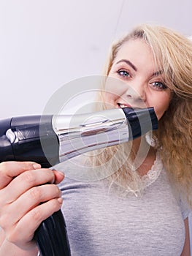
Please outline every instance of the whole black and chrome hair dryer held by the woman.
[{"label": "whole black and chrome hair dryer held by the woman", "polygon": [[[115,108],[78,115],[20,116],[0,121],[0,162],[34,161],[51,167],[66,159],[117,145],[158,129],[153,108]],[[69,256],[61,210],[35,233],[42,256]]]}]

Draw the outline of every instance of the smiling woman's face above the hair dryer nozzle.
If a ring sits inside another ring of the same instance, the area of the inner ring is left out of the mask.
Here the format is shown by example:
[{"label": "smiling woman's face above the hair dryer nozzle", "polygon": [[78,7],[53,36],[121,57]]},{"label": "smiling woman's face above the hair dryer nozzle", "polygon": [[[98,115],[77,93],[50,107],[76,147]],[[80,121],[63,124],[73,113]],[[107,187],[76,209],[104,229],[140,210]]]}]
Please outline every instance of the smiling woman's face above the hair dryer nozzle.
[{"label": "smiling woman's face above the hair dryer nozzle", "polygon": [[154,107],[159,120],[171,99],[162,72],[155,69],[153,53],[143,39],[125,42],[107,78],[104,102],[110,104],[109,108]]}]

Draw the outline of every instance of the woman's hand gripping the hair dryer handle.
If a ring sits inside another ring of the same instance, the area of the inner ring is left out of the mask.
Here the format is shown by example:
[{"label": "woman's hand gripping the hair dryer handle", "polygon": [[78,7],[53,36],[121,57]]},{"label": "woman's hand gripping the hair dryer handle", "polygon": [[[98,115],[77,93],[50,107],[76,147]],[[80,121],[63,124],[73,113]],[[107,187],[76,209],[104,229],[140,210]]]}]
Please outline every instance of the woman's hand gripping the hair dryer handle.
[{"label": "woman's hand gripping the hair dryer handle", "polygon": [[0,227],[7,241],[24,250],[36,247],[35,230],[61,208],[61,191],[55,184],[63,178],[34,162],[0,164]]}]

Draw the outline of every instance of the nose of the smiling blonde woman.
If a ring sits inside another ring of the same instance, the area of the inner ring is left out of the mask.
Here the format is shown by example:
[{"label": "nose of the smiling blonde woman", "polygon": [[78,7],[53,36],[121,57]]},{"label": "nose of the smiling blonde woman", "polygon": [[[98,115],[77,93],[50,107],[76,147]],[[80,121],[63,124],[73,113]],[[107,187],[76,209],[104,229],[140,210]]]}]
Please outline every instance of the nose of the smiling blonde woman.
[{"label": "nose of the smiling blonde woman", "polygon": [[145,86],[142,83],[134,83],[134,85],[128,85],[126,90],[126,97],[134,100],[145,101]]}]

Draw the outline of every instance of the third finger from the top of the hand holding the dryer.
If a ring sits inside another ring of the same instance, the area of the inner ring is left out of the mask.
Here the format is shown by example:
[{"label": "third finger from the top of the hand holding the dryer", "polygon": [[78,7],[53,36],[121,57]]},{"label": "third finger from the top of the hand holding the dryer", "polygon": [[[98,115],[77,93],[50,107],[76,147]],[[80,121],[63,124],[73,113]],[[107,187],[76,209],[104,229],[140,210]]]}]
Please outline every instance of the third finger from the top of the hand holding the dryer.
[{"label": "third finger from the top of the hand holding the dryer", "polygon": [[61,197],[61,190],[55,184],[45,184],[29,189],[25,194],[21,195],[18,200],[9,206],[9,212],[15,214],[9,218],[9,213],[4,214],[7,225],[15,225],[19,219],[39,205],[39,203],[53,200]]}]

